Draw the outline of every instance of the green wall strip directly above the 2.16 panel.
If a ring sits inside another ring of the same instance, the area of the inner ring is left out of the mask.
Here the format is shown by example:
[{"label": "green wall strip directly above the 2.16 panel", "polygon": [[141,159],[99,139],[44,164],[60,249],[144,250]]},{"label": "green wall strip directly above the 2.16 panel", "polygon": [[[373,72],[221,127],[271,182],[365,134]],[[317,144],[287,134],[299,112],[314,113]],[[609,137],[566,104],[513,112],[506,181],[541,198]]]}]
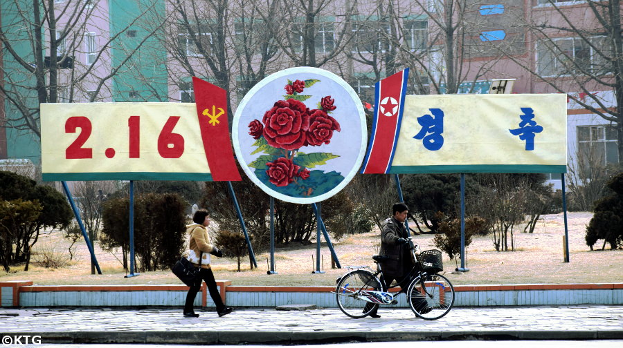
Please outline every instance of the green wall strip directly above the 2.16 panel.
[{"label": "green wall strip directly above the 2.16 panel", "polygon": [[[156,30],[165,12],[164,0],[109,1],[110,35],[121,32],[111,50],[113,67],[120,66],[129,52]],[[166,50],[159,41],[164,32],[157,30],[124,64],[123,72],[113,78],[113,101],[168,101]]]}]

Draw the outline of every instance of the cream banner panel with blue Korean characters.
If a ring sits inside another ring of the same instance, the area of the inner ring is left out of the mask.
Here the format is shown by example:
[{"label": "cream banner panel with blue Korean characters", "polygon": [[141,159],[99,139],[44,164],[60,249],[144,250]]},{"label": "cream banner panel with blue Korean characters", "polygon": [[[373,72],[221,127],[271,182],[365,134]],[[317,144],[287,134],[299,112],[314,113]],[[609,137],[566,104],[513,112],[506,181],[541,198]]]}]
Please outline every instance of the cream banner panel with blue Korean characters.
[{"label": "cream banner panel with blue Korean characters", "polygon": [[566,95],[407,95],[390,173],[564,173]]}]

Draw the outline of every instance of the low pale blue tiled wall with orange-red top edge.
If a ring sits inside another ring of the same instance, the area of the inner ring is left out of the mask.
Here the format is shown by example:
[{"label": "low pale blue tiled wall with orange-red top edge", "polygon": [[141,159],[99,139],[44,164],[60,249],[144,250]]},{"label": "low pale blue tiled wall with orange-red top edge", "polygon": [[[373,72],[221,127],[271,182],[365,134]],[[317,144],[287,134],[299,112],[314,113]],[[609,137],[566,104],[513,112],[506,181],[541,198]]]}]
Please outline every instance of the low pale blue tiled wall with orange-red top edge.
[{"label": "low pale blue tiled wall with orange-red top edge", "polygon": [[[226,305],[277,307],[311,304],[337,307],[334,287],[242,287],[217,280]],[[33,286],[32,282],[0,282],[0,307],[138,307],[182,306],[185,285]],[[396,291],[396,289],[392,289]],[[408,307],[398,296],[394,307]],[[455,306],[623,305],[623,283],[462,285],[455,287]],[[195,306],[214,307],[206,285]]]}]

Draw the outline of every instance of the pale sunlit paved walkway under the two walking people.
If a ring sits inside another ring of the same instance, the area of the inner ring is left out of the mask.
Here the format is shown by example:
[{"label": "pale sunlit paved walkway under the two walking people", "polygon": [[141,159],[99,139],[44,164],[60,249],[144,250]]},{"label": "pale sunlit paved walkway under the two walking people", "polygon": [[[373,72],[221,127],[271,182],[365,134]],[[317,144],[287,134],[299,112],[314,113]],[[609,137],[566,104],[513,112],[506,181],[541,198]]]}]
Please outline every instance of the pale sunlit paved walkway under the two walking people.
[{"label": "pale sunlit paved walkway under the two walking people", "polygon": [[623,306],[457,308],[433,321],[416,318],[408,309],[382,308],[378,319],[352,319],[338,309],[237,309],[222,318],[213,311],[197,313],[199,318],[183,318],[181,309],[170,308],[0,309],[0,336],[3,343],[29,335],[47,344],[179,345],[623,339]]}]

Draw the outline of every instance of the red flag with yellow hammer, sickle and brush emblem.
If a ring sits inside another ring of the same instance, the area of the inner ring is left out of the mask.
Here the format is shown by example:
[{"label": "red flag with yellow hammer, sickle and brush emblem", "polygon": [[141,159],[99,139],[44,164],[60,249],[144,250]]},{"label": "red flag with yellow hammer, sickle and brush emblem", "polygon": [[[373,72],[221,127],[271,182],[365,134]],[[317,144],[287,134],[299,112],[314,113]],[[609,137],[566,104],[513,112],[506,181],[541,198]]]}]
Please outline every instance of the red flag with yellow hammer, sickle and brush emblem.
[{"label": "red flag with yellow hammer, sickle and brush emblem", "polygon": [[195,88],[199,129],[212,180],[242,180],[236,168],[229,137],[225,90],[197,77],[192,77],[192,85]]}]

